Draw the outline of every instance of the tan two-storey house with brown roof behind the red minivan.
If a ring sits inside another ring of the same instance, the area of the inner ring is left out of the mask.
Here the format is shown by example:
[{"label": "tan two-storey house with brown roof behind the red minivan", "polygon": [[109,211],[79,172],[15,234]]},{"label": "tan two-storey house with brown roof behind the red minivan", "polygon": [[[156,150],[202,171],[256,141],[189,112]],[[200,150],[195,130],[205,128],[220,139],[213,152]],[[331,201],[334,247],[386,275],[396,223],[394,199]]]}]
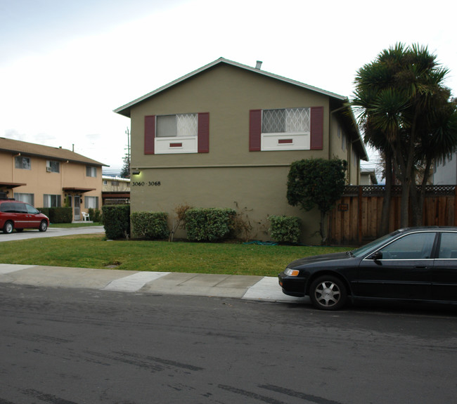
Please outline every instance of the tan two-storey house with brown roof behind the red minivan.
[{"label": "tan two-storey house with brown roof behind the red minivan", "polygon": [[0,192],[34,207],[101,207],[102,164],[63,148],[0,138]]}]

